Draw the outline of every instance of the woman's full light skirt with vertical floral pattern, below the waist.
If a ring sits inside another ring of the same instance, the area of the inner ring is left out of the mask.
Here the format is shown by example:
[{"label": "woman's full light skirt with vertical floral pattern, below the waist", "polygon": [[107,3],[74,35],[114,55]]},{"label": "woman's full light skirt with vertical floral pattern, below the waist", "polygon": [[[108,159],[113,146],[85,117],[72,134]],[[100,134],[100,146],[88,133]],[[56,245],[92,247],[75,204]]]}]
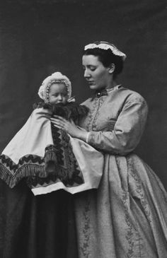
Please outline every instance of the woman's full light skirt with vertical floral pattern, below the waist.
[{"label": "woman's full light skirt with vertical floral pattern, below the waist", "polygon": [[106,154],[99,188],[74,198],[79,258],[167,257],[167,193],[136,155]]}]

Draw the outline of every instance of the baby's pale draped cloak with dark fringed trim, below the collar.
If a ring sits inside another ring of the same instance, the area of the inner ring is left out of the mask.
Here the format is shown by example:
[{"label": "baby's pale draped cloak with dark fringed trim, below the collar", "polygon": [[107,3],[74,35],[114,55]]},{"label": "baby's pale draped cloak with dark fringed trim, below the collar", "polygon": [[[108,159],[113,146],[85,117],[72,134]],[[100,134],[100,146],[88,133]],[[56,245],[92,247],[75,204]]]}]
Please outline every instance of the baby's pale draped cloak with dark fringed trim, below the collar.
[{"label": "baby's pale draped cloak with dark fringed trim, below the collar", "polygon": [[[50,110],[42,107],[33,111],[1,153],[1,179],[14,187],[21,179],[28,178],[34,194],[57,189],[74,194],[97,188],[103,172],[103,154],[53,127],[51,115]],[[54,160],[51,173],[45,169],[48,155]]]}]

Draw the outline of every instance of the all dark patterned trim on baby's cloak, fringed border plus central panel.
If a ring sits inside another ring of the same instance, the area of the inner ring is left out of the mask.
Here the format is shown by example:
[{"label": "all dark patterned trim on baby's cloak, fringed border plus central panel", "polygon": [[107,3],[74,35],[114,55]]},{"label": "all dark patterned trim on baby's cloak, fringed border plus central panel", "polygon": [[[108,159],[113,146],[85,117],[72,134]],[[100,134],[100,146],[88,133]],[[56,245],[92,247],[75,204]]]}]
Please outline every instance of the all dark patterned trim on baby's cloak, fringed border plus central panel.
[{"label": "all dark patterned trim on baby's cloak, fringed border plus central panel", "polygon": [[54,145],[45,148],[45,157],[27,155],[16,164],[8,156],[0,156],[0,178],[13,188],[24,177],[45,178],[54,176],[64,184],[81,184],[84,177],[78,167],[71,148],[69,136],[65,132],[52,130]]}]

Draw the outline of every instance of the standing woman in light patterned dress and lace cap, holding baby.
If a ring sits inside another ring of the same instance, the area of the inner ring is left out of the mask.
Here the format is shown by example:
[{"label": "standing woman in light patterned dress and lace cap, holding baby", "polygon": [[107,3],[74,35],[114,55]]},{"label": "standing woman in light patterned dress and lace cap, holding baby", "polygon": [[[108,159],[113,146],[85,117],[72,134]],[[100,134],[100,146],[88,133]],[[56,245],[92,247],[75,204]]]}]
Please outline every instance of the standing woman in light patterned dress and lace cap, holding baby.
[{"label": "standing woman in light patterned dress and lace cap, holding baby", "polygon": [[84,77],[95,91],[81,131],[61,117],[54,126],[103,152],[97,190],[75,195],[79,257],[167,257],[167,194],[159,178],[134,153],[146,123],[138,93],[117,85],[125,54],[109,42],[86,45]]}]

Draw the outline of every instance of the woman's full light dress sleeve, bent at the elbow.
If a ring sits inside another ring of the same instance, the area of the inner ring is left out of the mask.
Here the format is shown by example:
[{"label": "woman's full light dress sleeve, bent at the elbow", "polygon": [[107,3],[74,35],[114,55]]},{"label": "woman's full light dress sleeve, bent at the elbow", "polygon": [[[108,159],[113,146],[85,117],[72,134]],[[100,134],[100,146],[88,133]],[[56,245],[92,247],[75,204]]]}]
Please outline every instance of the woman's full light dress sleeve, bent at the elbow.
[{"label": "woman's full light dress sleeve, bent at the elbow", "polygon": [[147,113],[148,107],[143,98],[128,100],[117,117],[113,131],[91,131],[87,141],[98,151],[126,155],[139,143]]}]

